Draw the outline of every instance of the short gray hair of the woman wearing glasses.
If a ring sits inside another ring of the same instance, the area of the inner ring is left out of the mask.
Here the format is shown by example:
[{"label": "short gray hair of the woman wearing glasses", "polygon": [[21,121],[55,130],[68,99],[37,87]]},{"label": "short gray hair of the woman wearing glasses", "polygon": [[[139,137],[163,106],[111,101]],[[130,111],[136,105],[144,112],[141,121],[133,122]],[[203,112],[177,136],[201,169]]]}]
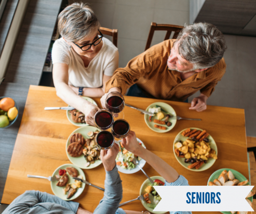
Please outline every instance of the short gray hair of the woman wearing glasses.
[{"label": "short gray hair of the woman wearing glasses", "polygon": [[100,22],[87,4],[73,3],[59,14],[58,28],[67,42],[77,42],[99,29]]}]

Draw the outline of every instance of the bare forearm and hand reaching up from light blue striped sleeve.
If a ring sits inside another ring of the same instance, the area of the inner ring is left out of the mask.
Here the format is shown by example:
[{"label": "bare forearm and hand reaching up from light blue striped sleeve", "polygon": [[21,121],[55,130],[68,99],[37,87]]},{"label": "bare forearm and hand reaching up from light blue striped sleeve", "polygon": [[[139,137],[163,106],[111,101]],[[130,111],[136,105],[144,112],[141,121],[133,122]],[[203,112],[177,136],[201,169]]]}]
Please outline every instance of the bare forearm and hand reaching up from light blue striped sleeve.
[{"label": "bare forearm and hand reaching up from light blue striped sleeve", "polygon": [[159,158],[157,155],[138,144],[134,131],[130,131],[130,134],[126,138],[122,139],[122,144],[126,150],[144,159],[168,183],[175,182],[175,180],[179,178],[178,172],[173,169],[168,163],[166,163],[163,159]]}]

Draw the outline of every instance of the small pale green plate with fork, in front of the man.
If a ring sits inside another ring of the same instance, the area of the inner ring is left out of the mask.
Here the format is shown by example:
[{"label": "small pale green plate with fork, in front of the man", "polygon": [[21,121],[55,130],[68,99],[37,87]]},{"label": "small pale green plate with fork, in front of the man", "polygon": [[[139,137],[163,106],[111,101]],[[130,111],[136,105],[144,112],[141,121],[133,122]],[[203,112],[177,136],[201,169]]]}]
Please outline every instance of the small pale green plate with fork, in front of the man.
[{"label": "small pale green plate with fork, in front of the man", "polygon": [[[152,103],[151,105],[148,106],[148,108],[146,109],[146,111],[148,111],[149,108],[156,108],[156,105],[161,106],[161,108],[162,108],[163,110],[169,112],[169,113],[171,114],[171,116],[177,116],[176,112],[174,111],[174,109],[172,108],[171,105],[168,105],[167,103],[162,103],[162,102]],[[162,111],[162,112],[163,112],[163,111]],[[163,113],[164,113],[164,118],[163,118],[162,120],[165,119],[165,114],[166,114],[165,112],[163,112]],[[154,123],[153,121],[154,121],[154,119],[157,119],[156,113],[155,113],[155,116],[153,116],[153,117],[151,118],[151,122],[149,121],[149,117],[150,117],[150,116],[149,116],[148,114],[144,114],[144,118],[145,118],[145,122],[146,122],[147,126],[148,126],[150,129],[152,129],[153,131],[156,131],[156,132],[158,132],[158,133],[165,133],[165,132],[167,132],[167,131],[172,130],[173,127],[175,126],[176,122],[177,122],[177,119],[173,119],[173,120],[169,119],[169,121],[172,123],[172,125],[169,126],[169,127],[166,126],[166,125],[157,124],[157,125],[159,125],[159,126],[164,126],[164,127],[166,127],[166,130],[162,130],[162,129],[159,129],[159,128],[155,128],[155,127],[154,127],[155,123]]]}]

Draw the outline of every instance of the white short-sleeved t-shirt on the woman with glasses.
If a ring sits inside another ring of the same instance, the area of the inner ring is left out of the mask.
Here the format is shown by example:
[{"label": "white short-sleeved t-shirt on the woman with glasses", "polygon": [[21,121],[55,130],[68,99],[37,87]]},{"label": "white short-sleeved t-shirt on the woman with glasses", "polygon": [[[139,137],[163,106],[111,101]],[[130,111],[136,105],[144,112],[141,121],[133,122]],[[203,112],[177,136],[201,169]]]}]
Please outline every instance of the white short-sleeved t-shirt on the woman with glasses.
[{"label": "white short-sleeved t-shirt on the woman with glasses", "polygon": [[68,65],[68,84],[75,87],[98,88],[103,86],[103,73],[112,76],[118,68],[119,53],[117,47],[107,38],[99,53],[84,67],[82,58],[63,38],[57,39],[52,47],[52,63]]}]

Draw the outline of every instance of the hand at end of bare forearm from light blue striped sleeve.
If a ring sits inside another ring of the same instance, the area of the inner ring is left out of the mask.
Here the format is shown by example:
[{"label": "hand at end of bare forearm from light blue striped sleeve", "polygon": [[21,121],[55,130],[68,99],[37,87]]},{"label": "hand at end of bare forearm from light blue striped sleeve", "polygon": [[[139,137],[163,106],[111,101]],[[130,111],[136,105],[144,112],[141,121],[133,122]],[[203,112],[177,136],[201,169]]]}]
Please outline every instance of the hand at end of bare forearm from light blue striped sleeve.
[{"label": "hand at end of bare forearm from light blue striped sleeve", "polygon": [[130,131],[129,135],[122,139],[122,144],[126,150],[139,156],[140,150],[143,148],[137,141],[137,137],[134,131]]}]

